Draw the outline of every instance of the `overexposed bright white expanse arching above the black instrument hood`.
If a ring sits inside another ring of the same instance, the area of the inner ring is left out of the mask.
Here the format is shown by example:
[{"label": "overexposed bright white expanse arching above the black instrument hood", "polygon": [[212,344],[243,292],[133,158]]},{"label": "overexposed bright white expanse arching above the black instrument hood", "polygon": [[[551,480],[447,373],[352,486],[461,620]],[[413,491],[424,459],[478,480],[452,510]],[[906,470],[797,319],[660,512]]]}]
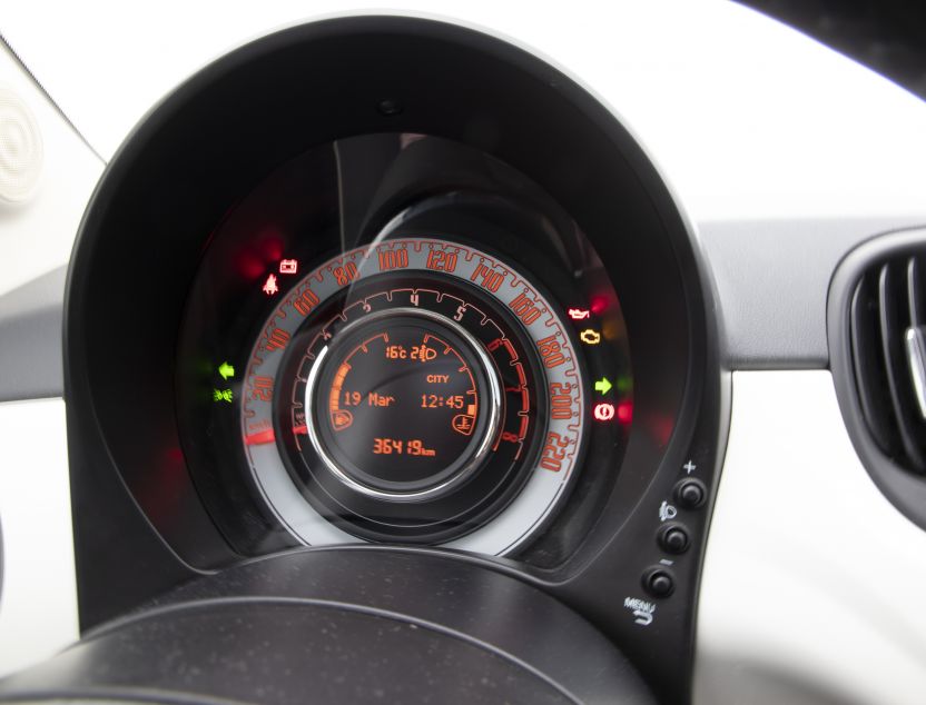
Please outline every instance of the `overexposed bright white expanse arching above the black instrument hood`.
[{"label": "overexposed bright white expanse arching above the black instrument hood", "polygon": [[694,219],[923,216],[926,105],[732,2],[95,0],[4,7],[4,37],[100,153],[178,82],[280,26],[416,13],[500,34],[620,113]]}]

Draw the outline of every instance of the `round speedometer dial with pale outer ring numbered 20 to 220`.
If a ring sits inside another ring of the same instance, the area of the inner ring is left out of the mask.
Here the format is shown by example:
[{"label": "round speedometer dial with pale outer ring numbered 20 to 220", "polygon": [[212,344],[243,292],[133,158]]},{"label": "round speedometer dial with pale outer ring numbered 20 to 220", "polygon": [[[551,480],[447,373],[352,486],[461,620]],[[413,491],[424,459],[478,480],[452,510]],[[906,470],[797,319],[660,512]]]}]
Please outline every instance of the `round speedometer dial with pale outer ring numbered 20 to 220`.
[{"label": "round speedometer dial with pale outer ring numbered 20 to 220", "polygon": [[510,264],[396,237],[303,277],[254,346],[242,434],[257,485],[311,545],[515,548],[582,447],[573,334]]}]

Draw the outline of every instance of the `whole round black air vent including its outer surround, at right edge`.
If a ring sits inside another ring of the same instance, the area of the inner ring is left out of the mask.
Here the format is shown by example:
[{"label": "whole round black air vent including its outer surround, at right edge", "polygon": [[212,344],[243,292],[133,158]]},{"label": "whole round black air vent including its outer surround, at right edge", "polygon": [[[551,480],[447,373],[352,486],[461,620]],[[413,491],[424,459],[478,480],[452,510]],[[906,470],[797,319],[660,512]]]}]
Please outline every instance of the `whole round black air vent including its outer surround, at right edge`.
[{"label": "whole round black air vent including its outer surround, at right edge", "polygon": [[827,314],[853,444],[885,496],[926,528],[926,230],[853,250],[833,278]]}]

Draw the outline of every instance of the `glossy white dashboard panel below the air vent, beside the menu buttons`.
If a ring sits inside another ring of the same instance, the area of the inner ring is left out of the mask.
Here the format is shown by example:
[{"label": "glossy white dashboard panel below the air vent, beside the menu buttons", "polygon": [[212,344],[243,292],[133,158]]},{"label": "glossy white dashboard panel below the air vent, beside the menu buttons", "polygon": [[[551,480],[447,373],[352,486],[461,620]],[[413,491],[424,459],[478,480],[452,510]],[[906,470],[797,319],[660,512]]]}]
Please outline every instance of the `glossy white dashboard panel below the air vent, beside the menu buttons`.
[{"label": "glossy white dashboard panel below the air vent, beside the menu buttons", "polygon": [[878,491],[828,371],[735,373],[696,703],[922,703],[926,534]]}]

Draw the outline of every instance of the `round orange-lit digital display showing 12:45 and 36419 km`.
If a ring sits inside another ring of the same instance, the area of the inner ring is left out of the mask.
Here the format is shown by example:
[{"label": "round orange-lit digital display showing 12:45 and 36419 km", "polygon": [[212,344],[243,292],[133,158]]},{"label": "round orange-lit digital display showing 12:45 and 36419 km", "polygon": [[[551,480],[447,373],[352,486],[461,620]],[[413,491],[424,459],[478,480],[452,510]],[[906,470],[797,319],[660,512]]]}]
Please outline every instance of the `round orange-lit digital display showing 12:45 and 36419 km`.
[{"label": "round orange-lit digital display showing 12:45 and 36419 km", "polygon": [[441,322],[400,315],[361,326],[329,349],[315,389],[324,450],[375,487],[440,483],[480,441],[477,370],[467,342]]}]

